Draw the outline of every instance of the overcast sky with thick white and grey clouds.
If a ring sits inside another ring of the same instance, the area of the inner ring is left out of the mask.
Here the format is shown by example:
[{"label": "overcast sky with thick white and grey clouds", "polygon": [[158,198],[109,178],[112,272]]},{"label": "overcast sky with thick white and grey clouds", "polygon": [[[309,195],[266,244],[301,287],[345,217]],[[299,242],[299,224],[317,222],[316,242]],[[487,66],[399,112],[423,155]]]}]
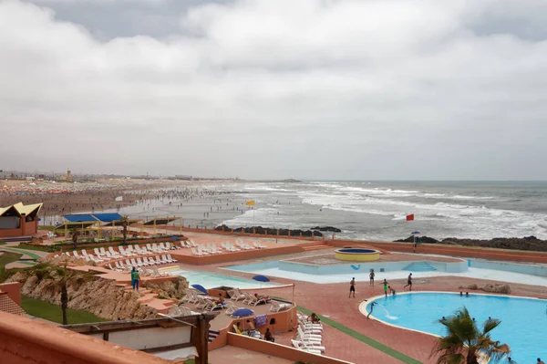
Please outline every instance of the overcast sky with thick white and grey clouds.
[{"label": "overcast sky with thick white and grey clouds", "polygon": [[0,169],[547,180],[545,0],[0,0]]}]

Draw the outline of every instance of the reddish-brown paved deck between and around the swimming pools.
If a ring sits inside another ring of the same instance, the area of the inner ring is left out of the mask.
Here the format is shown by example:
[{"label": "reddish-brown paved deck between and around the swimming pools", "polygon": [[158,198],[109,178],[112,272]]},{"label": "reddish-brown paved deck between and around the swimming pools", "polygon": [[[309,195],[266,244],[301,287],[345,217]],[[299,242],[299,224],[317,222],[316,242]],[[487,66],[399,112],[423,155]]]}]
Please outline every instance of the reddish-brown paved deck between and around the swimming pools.
[{"label": "reddish-brown paved deck between and around the swimming pools", "polygon": [[[332,256],[332,253],[329,250],[325,250],[320,252],[306,252],[298,255],[309,256],[301,256],[299,258],[293,258],[292,260],[295,259],[311,263],[316,260],[328,260],[328,255]],[[269,257],[269,259],[287,259],[291,256],[294,257],[294,255],[284,255],[283,257],[272,256]],[[394,254],[392,258],[397,259],[397,254]],[[392,258],[390,257],[388,259]],[[412,254],[401,254],[398,258],[404,260],[424,260],[423,255],[420,256]],[[230,265],[255,263],[256,261],[264,261],[269,259],[263,258],[253,261],[245,260],[240,262],[232,262]],[[427,259],[450,262],[459,260],[458,258],[434,255],[427,255]],[[326,264],[328,264],[328,262]],[[182,268],[186,267],[195,271],[211,272],[214,274],[228,276],[239,276],[248,279],[251,279],[253,276],[251,273],[222,269],[222,267],[225,267],[226,265],[227,264],[181,266]],[[413,287],[414,291],[459,292],[462,290],[459,286],[468,286],[472,284],[477,284],[478,286],[484,286],[486,284],[500,284],[500,281],[465,276],[427,276],[425,273],[423,276],[420,275],[420,272],[415,272],[413,274],[415,282]],[[402,354],[407,355],[411,359],[416,359],[418,362],[435,362],[435,359],[429,358],[431,348],[433,348],[436,342],[435,338],[426,334],[411,332],[403,328],[390,327],[376,320],[368,320],[359,311],[359,304],[363,302],[364,299],[383,294],[383,288],[378,282],[383,279],[380,273],[377,274],[377,284],[374,287],[369,286],[368,281],[357,281],[356,298],[348,298],[347,296],[349,283],[315,284],[312,282],[294,281],[292,279],[285,278],[271,278],[274,283],[278,284],[295,283],[294,302],[296,302],[299,307],[304,307],[317,313],[318,315],[328,317],[336,323],[346,327],[349,332],[354,333],[354,335],[348,335],[340,332],[336,328],[331,328],[325,325],[323,346],[325,346],[327,350],[326,353],[329,357],[344,359],[356,364],[363,362],[401,362],[401,360],[394,358],[380,349],[373,348],[359,339],[362,338],[361,336],[366,336],[367,338],[372,338],[388,348],[392,348]],[[348,277],[348,282],[350,279],[351,277]],[[406,285],[406,279],[389,279],[389,283],[397,290],[402,291],[403,286]],[[532,286],[515,283],[511,283],[510,286],[511,295],[541,297],[547,299],[547,286]],[[474,292],[471,290],[469,291],[471,295]],[[482,291],[476,292],[484,293]],[[286,288],[270,289],[267,293],[270,296],[291,298],[291,293]],[[290,339],[294,338],[294,332],[279,333],[276,338],[276,342],[290,346]]]}]

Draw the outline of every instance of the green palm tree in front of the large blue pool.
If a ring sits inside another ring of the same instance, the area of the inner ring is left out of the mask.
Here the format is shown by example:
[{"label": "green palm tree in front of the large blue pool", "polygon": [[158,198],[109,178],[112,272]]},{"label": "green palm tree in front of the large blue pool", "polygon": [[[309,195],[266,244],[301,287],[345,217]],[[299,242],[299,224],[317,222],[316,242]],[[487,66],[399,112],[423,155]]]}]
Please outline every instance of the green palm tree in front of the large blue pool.
[{"label": "green palm tree in front of the large blue pool", "polygon": [[490,331],[501,324],[497,318],[487,319],[479,328],[468,309],[463,307],[453,316],[439,319],[439,323],[447,334],[439,338],[431,352],[431,356],[439,355],[437,364],[478,364],[479,353],[497,362],[511,352],[507,344],[490,338]]}]

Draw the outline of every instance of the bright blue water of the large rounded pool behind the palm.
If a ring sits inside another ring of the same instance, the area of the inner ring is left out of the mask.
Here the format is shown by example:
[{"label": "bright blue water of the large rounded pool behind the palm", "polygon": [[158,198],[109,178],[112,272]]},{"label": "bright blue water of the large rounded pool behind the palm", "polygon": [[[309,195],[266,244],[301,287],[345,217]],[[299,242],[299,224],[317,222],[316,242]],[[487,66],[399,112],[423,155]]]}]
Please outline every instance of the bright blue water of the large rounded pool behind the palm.
[{"label": "bright blue water of the large rounded pool behind the palm", "polygon": [[[381,306],[374,307],[372,316],[398,327],[435,335],[444,334],[443,326],[437,322],[439,318],[465,306],[479,327],[488,317],[501,320],[491,336],[511,347],[511,359],[520,364],[547,359],[546,300],[423,292],[381,297],[376,302]],[[370,310],[370,304],[366,305],[366,311]]]}]

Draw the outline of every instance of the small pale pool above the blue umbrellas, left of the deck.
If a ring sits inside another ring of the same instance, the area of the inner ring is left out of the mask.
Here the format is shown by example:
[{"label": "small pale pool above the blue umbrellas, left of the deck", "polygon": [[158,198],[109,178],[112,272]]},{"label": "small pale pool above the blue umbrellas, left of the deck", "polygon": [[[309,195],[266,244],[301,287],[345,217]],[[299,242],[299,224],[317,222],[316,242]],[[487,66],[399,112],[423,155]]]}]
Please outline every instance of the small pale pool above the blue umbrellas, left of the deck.
[{"label": "small pale pool above the blue umbrellas, left of the deck", "polygon": [[237,276],[213,275],[206,272],[196,272],[186,269],[177,269],[169,272],[171,275],[183,276],[189,285],[201,285],[207,289],[218,286],[232,286],[237,288],[260,288],[266,286],[279,286],[271,282],[257,282],[252,279],[240,278]]}]

